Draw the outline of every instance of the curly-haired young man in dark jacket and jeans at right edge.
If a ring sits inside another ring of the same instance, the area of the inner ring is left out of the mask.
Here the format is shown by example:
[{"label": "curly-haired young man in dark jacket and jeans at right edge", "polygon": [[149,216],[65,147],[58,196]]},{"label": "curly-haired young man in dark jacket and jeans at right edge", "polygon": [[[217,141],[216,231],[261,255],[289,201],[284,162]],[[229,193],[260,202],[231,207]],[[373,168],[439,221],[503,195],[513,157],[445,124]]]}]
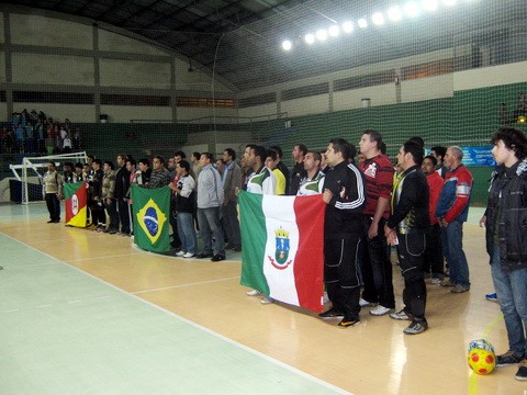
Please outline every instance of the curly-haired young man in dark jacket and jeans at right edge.
[{"label": "curly-haired young man in dark jacket and jeans at right edge", "polygon": [[497,169],[480,225],[486,226],[492,281],[508,338],[508,351],[496,357],[496,366],[518,364],[516,380],[527,381],[527,138],[504,126],[491,143]]}]

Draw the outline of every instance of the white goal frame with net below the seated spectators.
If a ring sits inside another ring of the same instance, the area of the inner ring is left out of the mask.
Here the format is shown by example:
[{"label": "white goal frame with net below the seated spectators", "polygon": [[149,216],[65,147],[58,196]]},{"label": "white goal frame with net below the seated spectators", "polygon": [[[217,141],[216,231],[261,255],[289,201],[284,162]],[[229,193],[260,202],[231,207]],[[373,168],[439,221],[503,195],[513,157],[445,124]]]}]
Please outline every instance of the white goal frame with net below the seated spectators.
[{"label": "white goal frame with net below the seated spectators", "polygon": [[64,163],[86,163],[87,158],[86,151],[82,151],[42,157],[24,157],[21,165],[10,165],[9,168],[13,172],[14,178],[21,182],[22,204],[44,200],[42,189],[44,174],[47,171],[47,163],[53,161],[57,171],[61,171]]}]

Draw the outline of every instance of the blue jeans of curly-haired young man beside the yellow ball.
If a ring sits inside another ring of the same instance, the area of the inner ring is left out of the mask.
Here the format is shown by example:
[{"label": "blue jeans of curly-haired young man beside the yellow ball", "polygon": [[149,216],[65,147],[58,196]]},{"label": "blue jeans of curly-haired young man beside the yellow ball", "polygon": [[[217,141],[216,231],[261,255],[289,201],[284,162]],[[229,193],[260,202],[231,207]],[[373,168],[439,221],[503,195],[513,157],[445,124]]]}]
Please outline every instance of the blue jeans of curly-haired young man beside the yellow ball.
[{"label": "blue jeans of curly-haired young man beside the yellow ball", "polygon": [[494,246],[491,260],[492,281],[507,328],[508,349],[518,357],[527,356],[527,268],[502,270],[500,247]]}]

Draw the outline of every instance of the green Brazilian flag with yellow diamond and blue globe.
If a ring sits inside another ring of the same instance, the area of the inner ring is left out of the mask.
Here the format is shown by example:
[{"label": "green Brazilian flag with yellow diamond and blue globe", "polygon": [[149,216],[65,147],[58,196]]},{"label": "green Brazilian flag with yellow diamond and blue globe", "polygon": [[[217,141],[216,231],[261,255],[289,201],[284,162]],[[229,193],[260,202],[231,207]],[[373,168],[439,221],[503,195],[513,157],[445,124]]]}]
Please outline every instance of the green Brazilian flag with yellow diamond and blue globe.
[{"label": "green Brazilian flag with yellow diamond and blue globe", "polygon": [[154,252],[170,250],[170,189],[132,187],[134,242]]}]

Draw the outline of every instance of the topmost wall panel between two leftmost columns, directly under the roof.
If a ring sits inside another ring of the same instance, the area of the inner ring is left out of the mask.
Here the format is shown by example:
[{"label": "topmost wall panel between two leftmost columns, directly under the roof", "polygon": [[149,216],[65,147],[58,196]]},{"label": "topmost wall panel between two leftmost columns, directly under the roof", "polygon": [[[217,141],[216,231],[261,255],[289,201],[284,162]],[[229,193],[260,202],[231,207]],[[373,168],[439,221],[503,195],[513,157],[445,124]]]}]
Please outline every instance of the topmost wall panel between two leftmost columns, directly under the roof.
[{"label": "topmost wall panel between two leftmost columns, directly under the roof", "polygon": [[41,15],[10,13],[11,43],[92,49],[92,27]]}]

